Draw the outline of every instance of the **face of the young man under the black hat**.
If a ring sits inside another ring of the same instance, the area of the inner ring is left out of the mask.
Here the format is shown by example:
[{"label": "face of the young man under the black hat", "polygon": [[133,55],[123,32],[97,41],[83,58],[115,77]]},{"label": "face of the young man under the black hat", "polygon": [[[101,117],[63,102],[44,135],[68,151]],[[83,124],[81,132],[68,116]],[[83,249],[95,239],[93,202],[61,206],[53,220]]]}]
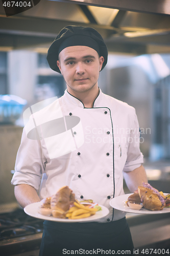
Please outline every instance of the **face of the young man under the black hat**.
[{"label": "face of the young man under the black hat", "polygon": [[104,57],[87,46],[70,46],[59,54],[57,66],[67,84],[70,93],[81,93],[98,88],[99,72]]}]

